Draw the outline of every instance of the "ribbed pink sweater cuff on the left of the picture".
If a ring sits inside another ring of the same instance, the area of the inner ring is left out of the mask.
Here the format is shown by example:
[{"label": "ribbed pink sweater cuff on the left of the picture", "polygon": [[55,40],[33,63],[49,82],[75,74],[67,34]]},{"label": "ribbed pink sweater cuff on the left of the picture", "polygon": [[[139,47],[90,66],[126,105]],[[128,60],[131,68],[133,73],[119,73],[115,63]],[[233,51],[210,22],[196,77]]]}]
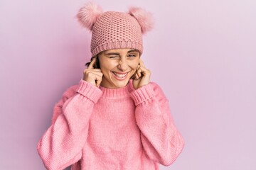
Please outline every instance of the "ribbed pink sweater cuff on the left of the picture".
[{"label": "ribbed pink sweater cuff on the left of the picture", "polygon": [[102,91],[97,88],[97,86],[93,86],[92,84],[82,79],[80,80],[76,91],[82,96],[89,98],[94,103],[97,103],[100,96],[102,96]]}]

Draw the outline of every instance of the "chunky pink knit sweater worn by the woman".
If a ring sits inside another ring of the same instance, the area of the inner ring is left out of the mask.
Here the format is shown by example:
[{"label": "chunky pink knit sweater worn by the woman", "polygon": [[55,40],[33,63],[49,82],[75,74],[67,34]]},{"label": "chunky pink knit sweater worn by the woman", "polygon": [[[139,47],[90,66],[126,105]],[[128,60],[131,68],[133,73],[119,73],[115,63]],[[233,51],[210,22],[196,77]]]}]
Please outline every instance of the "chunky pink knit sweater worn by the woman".
[{"label": "chunky pink knit sweater worn by the woman", "polygon": [[50,170],[156,170],[172,164],[183,145],[157,84],[106,89],[81,80],[55,105],[37,149]]}]

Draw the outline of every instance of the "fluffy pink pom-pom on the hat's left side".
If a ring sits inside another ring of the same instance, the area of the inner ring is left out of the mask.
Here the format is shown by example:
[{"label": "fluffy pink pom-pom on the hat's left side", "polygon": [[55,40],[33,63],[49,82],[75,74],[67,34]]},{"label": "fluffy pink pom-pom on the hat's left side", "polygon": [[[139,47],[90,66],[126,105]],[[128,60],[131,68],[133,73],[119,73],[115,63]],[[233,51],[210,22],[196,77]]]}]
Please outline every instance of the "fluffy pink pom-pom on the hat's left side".
[{"label": "fluffy pink pom-pom on the hat's left side", "polygon": [[89,2],[82,6],[78,11],[77,18],[83,27],[92,30],[97,17],[102,13],[102,8],[93,2]]}]

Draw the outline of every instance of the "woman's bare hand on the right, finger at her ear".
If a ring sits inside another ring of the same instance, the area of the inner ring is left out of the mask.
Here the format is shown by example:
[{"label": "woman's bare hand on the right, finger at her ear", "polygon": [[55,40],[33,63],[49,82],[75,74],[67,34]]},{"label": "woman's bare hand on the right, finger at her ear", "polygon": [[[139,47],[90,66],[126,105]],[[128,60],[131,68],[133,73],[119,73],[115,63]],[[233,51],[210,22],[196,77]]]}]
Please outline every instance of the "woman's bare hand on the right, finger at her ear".
[{"label": "woman's bare hand on the right, finger at her ear", "polygon": [[150,70],[146,69],[144,62],[140,59],[137,72],[135,72],[132,81],[134,89],[139,89],[140,87],[149,84],[150,74]]}]

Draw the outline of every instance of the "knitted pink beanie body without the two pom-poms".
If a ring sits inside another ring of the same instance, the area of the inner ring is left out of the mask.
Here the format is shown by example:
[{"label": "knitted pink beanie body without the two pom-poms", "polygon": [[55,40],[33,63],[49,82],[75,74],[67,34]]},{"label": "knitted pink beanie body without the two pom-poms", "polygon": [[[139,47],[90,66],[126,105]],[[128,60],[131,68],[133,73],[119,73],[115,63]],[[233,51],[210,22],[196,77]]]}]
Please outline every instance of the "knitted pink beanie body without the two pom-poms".
[{"label": "knitted pink beanie body without the two pom-poms", "polygon": [[92,56],[117,48],[134,48],[142,54],[142,28],[129,13],[107,11],[92,28]]}]

